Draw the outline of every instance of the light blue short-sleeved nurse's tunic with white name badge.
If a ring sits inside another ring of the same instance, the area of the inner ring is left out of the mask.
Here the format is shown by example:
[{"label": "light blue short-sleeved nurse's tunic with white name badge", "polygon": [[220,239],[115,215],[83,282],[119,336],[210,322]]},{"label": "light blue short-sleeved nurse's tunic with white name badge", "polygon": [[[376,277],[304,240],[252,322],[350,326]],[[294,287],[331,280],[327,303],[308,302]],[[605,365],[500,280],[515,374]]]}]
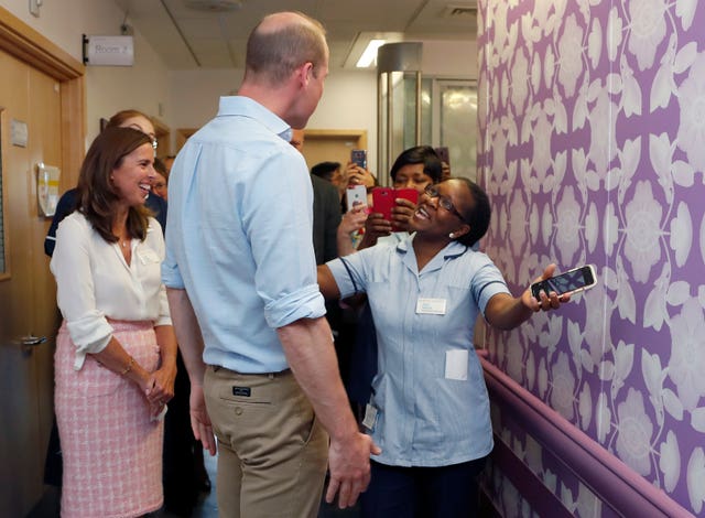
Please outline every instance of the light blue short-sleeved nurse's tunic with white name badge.
[{"label": "light blue short-sleeved nurse's tunic with white name badge", "polygon": [[[382,449],[375,460],[446,466],[480,458],[492,449],[492,429],[473,331],[487,302],[509,290],[485,253],[455,241],[419,272],[412,240],[327,263],[341,298],[367,292],[375,317],[379,354],[370,403],[378,414],[371,435]],[[445,301],[444,314],[419,312],[420,299]],[[467,352],[466,380],[446,377],[448,350]]]}]

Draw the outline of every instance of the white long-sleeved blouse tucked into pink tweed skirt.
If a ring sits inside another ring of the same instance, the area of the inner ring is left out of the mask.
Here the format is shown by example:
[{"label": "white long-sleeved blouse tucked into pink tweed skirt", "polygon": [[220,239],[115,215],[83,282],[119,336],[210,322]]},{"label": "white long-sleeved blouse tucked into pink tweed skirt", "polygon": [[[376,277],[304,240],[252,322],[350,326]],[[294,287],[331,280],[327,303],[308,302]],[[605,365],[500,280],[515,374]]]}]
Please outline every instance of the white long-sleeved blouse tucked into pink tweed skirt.
[{"label": "white long-sleeved blouse tucked into pink tweed skirt", "polygon": [[128,265],[119,245],[107,242],[77,211],[58,225],[50,268],[58,307],[76,344],[76,370],[86,354],[107,347],[112,336],[108,319],[172,323],[160,273],[164,237],[156,219],[150,218],[144,241],[132,239],[130,247]]}]

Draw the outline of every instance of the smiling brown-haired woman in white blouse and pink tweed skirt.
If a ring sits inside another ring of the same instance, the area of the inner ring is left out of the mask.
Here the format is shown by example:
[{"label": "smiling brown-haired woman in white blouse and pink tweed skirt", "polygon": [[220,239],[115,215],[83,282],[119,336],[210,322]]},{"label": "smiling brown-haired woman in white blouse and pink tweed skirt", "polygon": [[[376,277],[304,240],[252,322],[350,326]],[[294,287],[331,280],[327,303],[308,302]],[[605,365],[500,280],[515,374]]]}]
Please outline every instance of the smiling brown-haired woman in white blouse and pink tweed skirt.
[{"label": "smiling brown-haired woman in white blouse and pink tweed skirt", "polygon": [[176,339],[160,276],[162,230],[143,206],[153,161],[147,134],[104,130],[80,170],[77,211],[56,234],[63,516],[162,506],[161,417],[173,397]]}]

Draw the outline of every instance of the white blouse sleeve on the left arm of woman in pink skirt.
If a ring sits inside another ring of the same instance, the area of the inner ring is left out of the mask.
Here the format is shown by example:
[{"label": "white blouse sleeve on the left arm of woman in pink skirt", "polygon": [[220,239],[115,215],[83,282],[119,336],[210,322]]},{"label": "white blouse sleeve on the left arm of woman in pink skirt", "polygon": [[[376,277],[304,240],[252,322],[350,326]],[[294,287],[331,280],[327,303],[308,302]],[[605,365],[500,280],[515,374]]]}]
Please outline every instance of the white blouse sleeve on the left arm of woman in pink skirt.
[{"label": "white blouse sleeve on the left arm of woman in pink skirt", "polygon": [[75,219],[62,222],[56,231],[56,247],[51,261],[51,270],[56,278],[58,306],[76,345],[76,370],[83,367],[86,354],[100,353],[112,336],[112,326],[96,307],[89,256],[90,235],[86,230]]}]

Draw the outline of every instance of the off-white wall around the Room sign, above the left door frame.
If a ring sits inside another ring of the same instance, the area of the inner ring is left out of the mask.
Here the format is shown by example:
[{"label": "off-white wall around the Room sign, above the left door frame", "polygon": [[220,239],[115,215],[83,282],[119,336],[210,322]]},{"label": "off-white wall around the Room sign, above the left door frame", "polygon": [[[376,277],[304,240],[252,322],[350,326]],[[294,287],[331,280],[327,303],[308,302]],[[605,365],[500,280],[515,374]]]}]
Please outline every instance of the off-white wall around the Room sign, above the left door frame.
[{"label": "off-white wall around the Room sign, above the left door frame", "polygon": [[[124,20],[124,13],[112,0],[44,0],[40,18],[30,14],[28,0],[2,0],[2,7],[79,62],[83,62],[82,34],[118,35]],[[86,148],[98,134],[100,118],[121,109],[135,108],[171,126],[166,72],[137,31],[134,66],[88,66]]]}]

